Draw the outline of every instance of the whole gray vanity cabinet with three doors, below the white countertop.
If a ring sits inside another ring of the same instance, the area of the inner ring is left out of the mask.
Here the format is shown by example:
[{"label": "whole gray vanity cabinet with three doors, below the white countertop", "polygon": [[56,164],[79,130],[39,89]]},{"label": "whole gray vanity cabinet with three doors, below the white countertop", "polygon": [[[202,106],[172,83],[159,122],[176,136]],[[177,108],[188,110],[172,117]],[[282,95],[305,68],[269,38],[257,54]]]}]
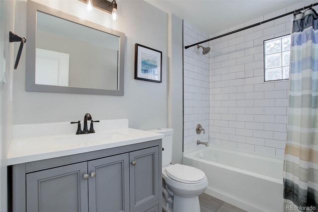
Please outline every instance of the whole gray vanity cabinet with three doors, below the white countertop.
[{"label": "whole gray vanity cabinet with three doors, below the white countertop", "polygon": [[13,212],[159,212],[159,189],[160,140],[12,166]]}]

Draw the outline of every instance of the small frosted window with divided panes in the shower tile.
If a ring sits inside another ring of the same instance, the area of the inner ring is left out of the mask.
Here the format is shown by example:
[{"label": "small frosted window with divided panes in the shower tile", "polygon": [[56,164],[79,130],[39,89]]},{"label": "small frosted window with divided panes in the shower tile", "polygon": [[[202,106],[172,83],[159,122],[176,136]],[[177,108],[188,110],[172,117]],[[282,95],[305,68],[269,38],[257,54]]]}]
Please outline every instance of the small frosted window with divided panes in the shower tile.
[{"label": "small frosted window with divided panes in the shower tile", "polygon": [[264,81],[289,79],[290,35],[264,41]]}]

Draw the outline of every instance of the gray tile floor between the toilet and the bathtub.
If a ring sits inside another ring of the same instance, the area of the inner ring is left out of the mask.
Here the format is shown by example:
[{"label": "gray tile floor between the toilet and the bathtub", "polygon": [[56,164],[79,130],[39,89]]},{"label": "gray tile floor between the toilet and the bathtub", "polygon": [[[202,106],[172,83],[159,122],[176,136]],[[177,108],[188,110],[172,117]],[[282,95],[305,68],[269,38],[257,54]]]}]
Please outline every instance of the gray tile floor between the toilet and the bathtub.
[{"label": "gray tile floor between the toilet and the bathtub", "polygon": [[199,196],[199,201],[201,212],[245,212],[205,193]]}]

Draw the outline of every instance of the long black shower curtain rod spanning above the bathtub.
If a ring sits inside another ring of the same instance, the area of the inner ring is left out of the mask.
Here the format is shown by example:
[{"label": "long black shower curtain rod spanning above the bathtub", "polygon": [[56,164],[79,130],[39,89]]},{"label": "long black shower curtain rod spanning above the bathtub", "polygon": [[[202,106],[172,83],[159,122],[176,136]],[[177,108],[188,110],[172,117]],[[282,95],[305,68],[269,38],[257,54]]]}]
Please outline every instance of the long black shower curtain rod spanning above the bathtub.
[{"label": "long black shower curtain rod spanning above the bathtub", "polygon": [[224,37],[224,36],[227,36],[227,35],[230,35],[230,34],[239,32],[239,31],[243,31],[243,30],[245,30],[245,29],[249,29],[249,28],[252,28],[252,27],[254,27],[254,26],[258,26],[258,25],[260,25],[260,24],[262,24],[262,23],[266,23],[266,22],[269,22],[269,21],[272,21],[272,20],[275,20],[275,19],[284,17],[284,16],[286,16],[286,15],[290,15],[290,14],[299,12],[299,11],[305,10],[305,9],[307,9],[307,8],[316,6],[316,5],[318,5],[318,3],[312,3],[311,5],[304,6],[303,8],[295,9],[295,10],[292,11],[292,12],[288,12],[288,13],[285,13],[285,14],[283,14],[283,15],[279,15],[279,16],[277,16],[277,17],[273,17],[273,18],[270,18],[270,19],[268,19],[268,20],[264,20],[264,21],[261,21],[261,22],[258,22],[258,23],[255,23],[255,24],[252,24],[252,25],[249,25],[249,26],[245,26],[245,27],[243,27],[243,28],[234,30],[234,31],[232,31],[232,32],[228,32],[228,33],[225,33],[225,34],[222,34],[222,35],[213,37],[213,38],[209,38],[209,39],[207,39],[207,40],[204,40],[204,41],[201,41],[201,42],[198,42],[198,43],[194,43],[194,44],[192,44],[192,45],[185,46],[184,48],[187,49],[187,48],[190,48],[190,47],[192,47],[192,46],[199,45],[199,44],[201,44],[201,43],[205,43],[205,42],[208,42],[208,41],[211,41],[211,40],[215,40],[215,39],[220,38],[220,37]]}]

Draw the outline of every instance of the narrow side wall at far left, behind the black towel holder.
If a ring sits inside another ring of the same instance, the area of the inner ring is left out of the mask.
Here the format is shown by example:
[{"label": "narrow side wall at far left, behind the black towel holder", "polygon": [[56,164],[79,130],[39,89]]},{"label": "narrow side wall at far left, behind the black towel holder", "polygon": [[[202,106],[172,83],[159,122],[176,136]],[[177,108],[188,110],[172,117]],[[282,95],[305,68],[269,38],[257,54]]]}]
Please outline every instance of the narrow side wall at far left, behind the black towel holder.
[{"label": "narrow side wall at far left, behind the black towel holder", "polygon": [[[10,84],[13,78],[13,64],[18,43],[9,43],[9,31],[14,30],[15,0],[0,0],[0,212],[7,211],[6,154],[12,131],[12,101]],[[5,82],[4,83],[4,78]]]}]

